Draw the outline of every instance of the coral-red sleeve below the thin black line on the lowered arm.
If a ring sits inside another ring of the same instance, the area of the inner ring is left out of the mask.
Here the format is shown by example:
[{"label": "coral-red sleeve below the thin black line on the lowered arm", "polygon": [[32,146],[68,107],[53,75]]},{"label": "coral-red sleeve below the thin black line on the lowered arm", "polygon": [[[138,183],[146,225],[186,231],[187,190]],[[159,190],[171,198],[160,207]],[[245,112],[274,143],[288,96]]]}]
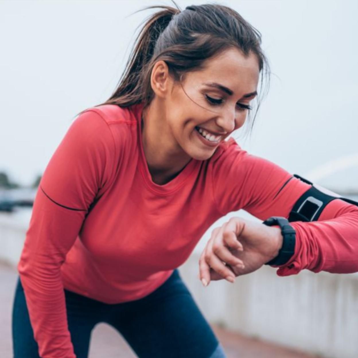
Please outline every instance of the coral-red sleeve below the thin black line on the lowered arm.
[{"label": "coral-red sleeve below the thin black line on the lowered arm", "polygon": [[34,339],[43,358],[75,358],[68,330],[61,265],[82,225],[83,212],[70,211],[38,190],[18,272]]}]

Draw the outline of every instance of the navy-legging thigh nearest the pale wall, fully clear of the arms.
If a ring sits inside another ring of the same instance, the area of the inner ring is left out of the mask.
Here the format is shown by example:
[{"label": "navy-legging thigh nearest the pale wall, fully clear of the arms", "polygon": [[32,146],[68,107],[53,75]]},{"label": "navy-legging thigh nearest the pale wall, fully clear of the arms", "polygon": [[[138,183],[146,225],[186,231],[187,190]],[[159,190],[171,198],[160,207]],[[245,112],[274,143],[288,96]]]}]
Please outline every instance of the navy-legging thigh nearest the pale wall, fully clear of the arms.
[{"label": "navy-legging thigh nearest the pale wall, fully clear of the arms", "polygon": [[108,323],[140,358],[225,357],[178,270],[150,295],[113,310],[111,317]]}]

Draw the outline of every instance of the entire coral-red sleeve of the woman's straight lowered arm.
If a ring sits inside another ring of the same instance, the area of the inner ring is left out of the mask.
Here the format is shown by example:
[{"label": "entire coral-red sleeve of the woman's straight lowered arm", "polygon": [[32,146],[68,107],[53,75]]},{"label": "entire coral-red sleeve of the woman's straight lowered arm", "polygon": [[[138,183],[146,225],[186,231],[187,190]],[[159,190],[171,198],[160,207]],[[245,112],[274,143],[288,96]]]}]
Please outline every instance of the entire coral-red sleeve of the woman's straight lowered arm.
[{"label": "entire coral-red sleeve of the woman's straight lowered arm", "polygon": [[114,153],[110,127],[87,110],[73,121],[40,180],[17,267],[42,358],[76,357],[60,268],[90,205],[111,183]]}]

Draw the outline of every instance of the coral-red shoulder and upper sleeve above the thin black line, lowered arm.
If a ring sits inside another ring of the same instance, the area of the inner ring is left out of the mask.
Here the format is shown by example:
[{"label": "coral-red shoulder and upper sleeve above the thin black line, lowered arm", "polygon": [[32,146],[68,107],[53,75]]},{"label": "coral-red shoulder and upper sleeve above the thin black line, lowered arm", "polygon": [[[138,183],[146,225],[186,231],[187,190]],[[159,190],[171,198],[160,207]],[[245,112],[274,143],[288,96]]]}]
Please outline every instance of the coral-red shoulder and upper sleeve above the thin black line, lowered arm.
[{"label": "coral-red shoulder and upper sleeve above the thin black line, lowered arm", "polygon": [[88,210],[111,180],[115,146],[106,121],[96,112],[83,112],[69,127],[55,150],[40,188],[55,203]]}]

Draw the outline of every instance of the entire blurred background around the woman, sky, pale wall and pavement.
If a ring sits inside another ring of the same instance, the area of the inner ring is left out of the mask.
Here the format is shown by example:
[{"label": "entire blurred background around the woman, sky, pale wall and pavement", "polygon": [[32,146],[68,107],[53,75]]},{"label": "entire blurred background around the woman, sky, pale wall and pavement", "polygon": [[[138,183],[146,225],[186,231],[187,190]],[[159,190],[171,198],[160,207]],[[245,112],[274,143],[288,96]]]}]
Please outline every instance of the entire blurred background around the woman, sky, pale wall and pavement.
[{"label": "entire blurred background around the woman, sky, pale wall and pavement", "polygon": [[[184,9],[205,1],[176,3]],[[217,3],[231,6],[261,32],[272,71],[252,135],[234,135],[239,144],[358,200],[358,2]],[[156,9],[134,11],[157,4],[173,6],[169,0],[0,1],[2,357],[11,355],[16,264],[41,175],[76,113],[110,97],[137,27]],[[303,271],[279,277],[263,267],[233,285],[202,287],[199,256],[212,229],[231,216],[255,219],[244,211],[221,218],[180,267],[228,356],[358,357],[357,274]],[[108,337],[120,338],[108,327],[93,337],[92,358]],[[135,357],[125,342],[118,344],[113,352],[123,349],[122,357]]]}]

